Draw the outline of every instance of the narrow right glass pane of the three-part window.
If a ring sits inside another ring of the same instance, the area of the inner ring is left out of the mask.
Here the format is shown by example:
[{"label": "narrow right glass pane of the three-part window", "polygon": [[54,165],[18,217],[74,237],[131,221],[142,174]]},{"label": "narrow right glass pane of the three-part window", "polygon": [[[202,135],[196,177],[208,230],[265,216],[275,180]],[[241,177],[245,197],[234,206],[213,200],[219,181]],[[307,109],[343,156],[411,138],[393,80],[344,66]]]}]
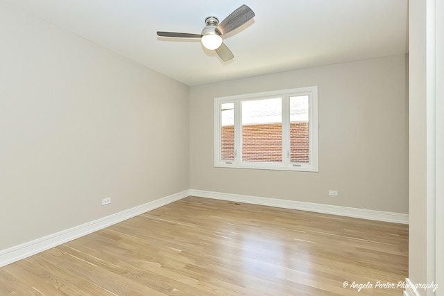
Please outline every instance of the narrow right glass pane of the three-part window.
[{"label": "narrow right glass pane of the three-part window", "polygon": [[290,97],[290,162],[309,163],[309,97]]}]

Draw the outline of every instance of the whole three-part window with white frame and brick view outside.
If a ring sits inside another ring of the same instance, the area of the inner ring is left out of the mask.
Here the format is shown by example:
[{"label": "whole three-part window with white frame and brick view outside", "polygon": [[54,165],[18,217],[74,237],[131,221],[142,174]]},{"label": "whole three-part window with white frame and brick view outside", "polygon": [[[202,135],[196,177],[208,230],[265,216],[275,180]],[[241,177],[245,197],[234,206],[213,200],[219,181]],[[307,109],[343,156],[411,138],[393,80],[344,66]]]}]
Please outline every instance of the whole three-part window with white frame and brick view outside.
[{"label": "whole three-part window with white frame and brick view outside", "polygon": [[318,88],[214,98],[214,166],[318,171]]}]

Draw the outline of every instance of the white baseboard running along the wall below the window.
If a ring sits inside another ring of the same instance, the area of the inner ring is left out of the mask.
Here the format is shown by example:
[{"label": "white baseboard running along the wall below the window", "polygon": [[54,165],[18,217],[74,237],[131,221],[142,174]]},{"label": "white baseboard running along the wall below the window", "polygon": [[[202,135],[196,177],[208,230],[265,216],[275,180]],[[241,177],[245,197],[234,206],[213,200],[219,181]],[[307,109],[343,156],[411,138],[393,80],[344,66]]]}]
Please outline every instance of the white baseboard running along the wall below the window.
[{"label": "white baseboard running along the wall below the window", "polygon": [[348,216],[369,220],[378,220],[392,223],[409,224],[409,215],[393,213],[390,211],[375,211],[370,209],[357,209],[352,207],[340,207],[331,204],[316,204],[312,202],[296,202],[294,200],[279,200],[276,198],[261,198],[251,195],[239,195],[214,191],[191,189],[189,195],[199,198],[214,198],[216,200],[229,200],[232,202],[245,202],[248,204],[261,204],[270,207],[285,209],[299,209],[302,211],[314,211],[317,213]]}]

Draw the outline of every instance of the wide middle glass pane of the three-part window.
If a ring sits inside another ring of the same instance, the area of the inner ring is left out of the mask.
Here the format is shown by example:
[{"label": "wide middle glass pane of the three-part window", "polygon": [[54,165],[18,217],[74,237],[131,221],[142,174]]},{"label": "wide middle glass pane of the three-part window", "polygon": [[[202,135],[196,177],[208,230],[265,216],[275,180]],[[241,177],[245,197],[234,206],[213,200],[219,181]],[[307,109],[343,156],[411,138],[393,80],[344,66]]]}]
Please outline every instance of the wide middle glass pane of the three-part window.
[{"label": "wide middle glass pane of the three-part window", "polygon": [[282,100],[242,102],[242,161],[282,162]]}]

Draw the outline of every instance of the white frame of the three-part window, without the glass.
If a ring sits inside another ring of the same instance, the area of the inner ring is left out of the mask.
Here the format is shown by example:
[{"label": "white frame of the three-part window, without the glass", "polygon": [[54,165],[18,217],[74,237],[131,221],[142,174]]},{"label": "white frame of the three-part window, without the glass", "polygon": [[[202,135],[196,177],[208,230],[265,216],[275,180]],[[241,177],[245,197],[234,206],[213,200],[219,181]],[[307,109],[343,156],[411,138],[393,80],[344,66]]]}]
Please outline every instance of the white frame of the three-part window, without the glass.
[{"label": "white frame of the three-part window, without the glass", "polygon": [[[309,163],[290,162],[291,96],[309,96]],[[282,98],[282,162],[243,162],[241,139],[241,102],[261,98]],[[221,104],[234,103],[234,160],[221,156]],[[255,168],[263,170],[318,172],[318,87],[299,87],[273,92],[214,98],[214,166],[221,168]]]}]

